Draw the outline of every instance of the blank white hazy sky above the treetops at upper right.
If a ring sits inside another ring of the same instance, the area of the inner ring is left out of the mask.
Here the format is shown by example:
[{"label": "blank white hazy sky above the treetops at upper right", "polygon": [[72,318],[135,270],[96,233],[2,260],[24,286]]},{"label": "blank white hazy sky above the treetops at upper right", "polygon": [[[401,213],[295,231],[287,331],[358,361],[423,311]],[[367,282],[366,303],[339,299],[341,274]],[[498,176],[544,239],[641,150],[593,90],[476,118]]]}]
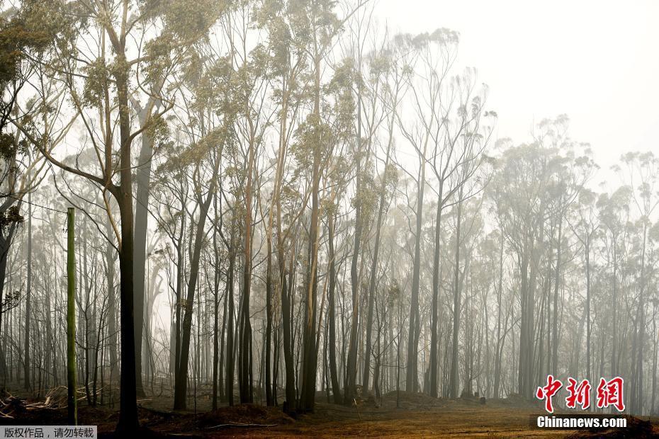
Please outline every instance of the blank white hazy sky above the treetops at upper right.
[{"label": "blank white hazy sky above the treetops at upper right", "polygon": [[623,152],[659,154],[659,1],[379,0],[376,15],[394,32],[461,34],[497,137],[529,141],[534,121],[565,113],[600,179]]}]

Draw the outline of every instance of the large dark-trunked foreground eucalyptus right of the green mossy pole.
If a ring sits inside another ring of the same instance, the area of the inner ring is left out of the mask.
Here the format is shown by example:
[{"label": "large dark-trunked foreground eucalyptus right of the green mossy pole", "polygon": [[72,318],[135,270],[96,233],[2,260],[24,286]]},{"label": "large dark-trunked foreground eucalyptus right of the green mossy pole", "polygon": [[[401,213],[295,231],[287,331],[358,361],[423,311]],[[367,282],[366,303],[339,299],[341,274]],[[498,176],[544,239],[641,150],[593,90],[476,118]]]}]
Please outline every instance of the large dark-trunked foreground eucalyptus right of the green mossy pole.
[{"label": "large dark-trunked foreground eucalyptus right of the green mossy pole", "polygon": [[[162,115],[172,108],[170,96],[159,96],[163,108],[137,130],[132,127],[130,96],[149,94],[149,74],[166,71],[186,57],[186,48],[203,37],[222,8],[215,1],[29,1],[35,20],[55,21],[56,43],[47,74],[67,89],[73,112],[86,130],[98,159],[96,169],[65,164],[54,152],[39,151],[51,164],[86,178],[103,194],[116,235],[120,266],[121,410],[118,431],[137,425],[135,402],[134,203],[133,140],[147,130],[162,132]],[[98,38],[97,38],[98,37]],[[79,74],[83,72],[83,74]],[[146,76],[142,76],[146,75]],[[113,125],[118,120],[118,138]],[[26,132],[26,130],[21,130]],[[27,135],[26,135],[27,136]],[[110,208],[116,200],[119,217]]]}]

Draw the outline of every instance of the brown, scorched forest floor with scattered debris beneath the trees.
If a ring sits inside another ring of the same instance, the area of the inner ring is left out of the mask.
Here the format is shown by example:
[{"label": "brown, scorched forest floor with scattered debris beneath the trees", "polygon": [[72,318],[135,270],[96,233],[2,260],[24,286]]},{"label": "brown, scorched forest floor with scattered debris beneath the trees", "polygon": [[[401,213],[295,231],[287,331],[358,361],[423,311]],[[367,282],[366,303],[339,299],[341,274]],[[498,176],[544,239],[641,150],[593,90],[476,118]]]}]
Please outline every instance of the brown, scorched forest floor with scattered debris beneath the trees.
[{"label": "brown, scorched forest floor with scattered debris beneath the trees", "polygon": [[[64,425],[67,409],[43,406],[43,399],[4,399],[0,425]],[[9,401],[9,405],[7,402]],[[312,414],[295,419],[281,408],[260,405],[221,407],[208,410],[207,398],[198,398],[198,412],[171,411],[171,399],[140,401],[142,438],[286,438],[286,437],[449,437],[449,438],[659,438],[659,419],[629,418],[628,427],[615,431],[589,432],[548,430],[535,426],[544,414],[539,405],[522,399],[434,399],[424,394],[390,392],[376,403],[358,401],[356,406],[328,404],[318,394]],[[96,425],[101,438],[113,437],[118,407],[91,407],[79,403],[79,424]]]}]

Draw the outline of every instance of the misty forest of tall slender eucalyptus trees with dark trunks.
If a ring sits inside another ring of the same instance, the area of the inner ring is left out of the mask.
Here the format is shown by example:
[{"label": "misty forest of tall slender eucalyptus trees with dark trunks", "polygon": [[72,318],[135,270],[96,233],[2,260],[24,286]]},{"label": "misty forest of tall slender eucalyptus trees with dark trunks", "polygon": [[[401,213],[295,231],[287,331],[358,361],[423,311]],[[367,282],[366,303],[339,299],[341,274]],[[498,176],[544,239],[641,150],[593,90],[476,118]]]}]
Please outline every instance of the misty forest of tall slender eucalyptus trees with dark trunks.
[{"label": "misty forest of tall slender eucalyptus trees with dark trunks", "polygon": [[659,415],[656,145],[500,137],[461,34],[373,0],[0,9],[4,392],[73,376],[126,432],[623,377]]}]

